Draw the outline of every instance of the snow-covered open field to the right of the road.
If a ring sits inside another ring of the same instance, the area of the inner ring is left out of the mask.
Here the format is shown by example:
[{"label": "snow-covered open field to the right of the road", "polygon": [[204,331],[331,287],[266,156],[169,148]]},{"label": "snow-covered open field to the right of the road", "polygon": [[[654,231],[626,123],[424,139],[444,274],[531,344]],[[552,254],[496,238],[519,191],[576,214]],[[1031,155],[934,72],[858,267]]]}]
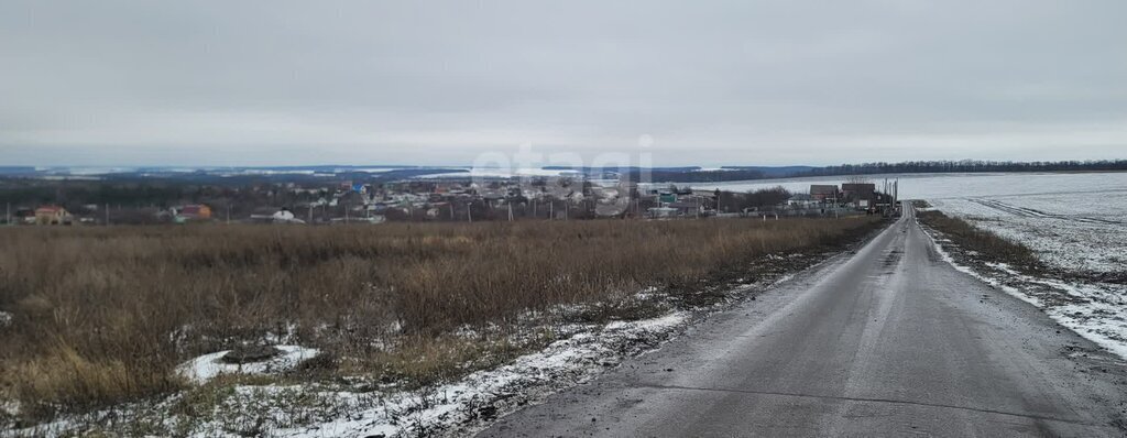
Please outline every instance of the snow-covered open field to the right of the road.
[{"label": "snow-covered open field to the right of the road", "polygon": [[[933,186],[919,187],[924,182]],[[1036,277],[970,258],[960,262],[1127,357],[1127,173],[902,179],[900,190],[1028,245],[1049,267]]]}]

